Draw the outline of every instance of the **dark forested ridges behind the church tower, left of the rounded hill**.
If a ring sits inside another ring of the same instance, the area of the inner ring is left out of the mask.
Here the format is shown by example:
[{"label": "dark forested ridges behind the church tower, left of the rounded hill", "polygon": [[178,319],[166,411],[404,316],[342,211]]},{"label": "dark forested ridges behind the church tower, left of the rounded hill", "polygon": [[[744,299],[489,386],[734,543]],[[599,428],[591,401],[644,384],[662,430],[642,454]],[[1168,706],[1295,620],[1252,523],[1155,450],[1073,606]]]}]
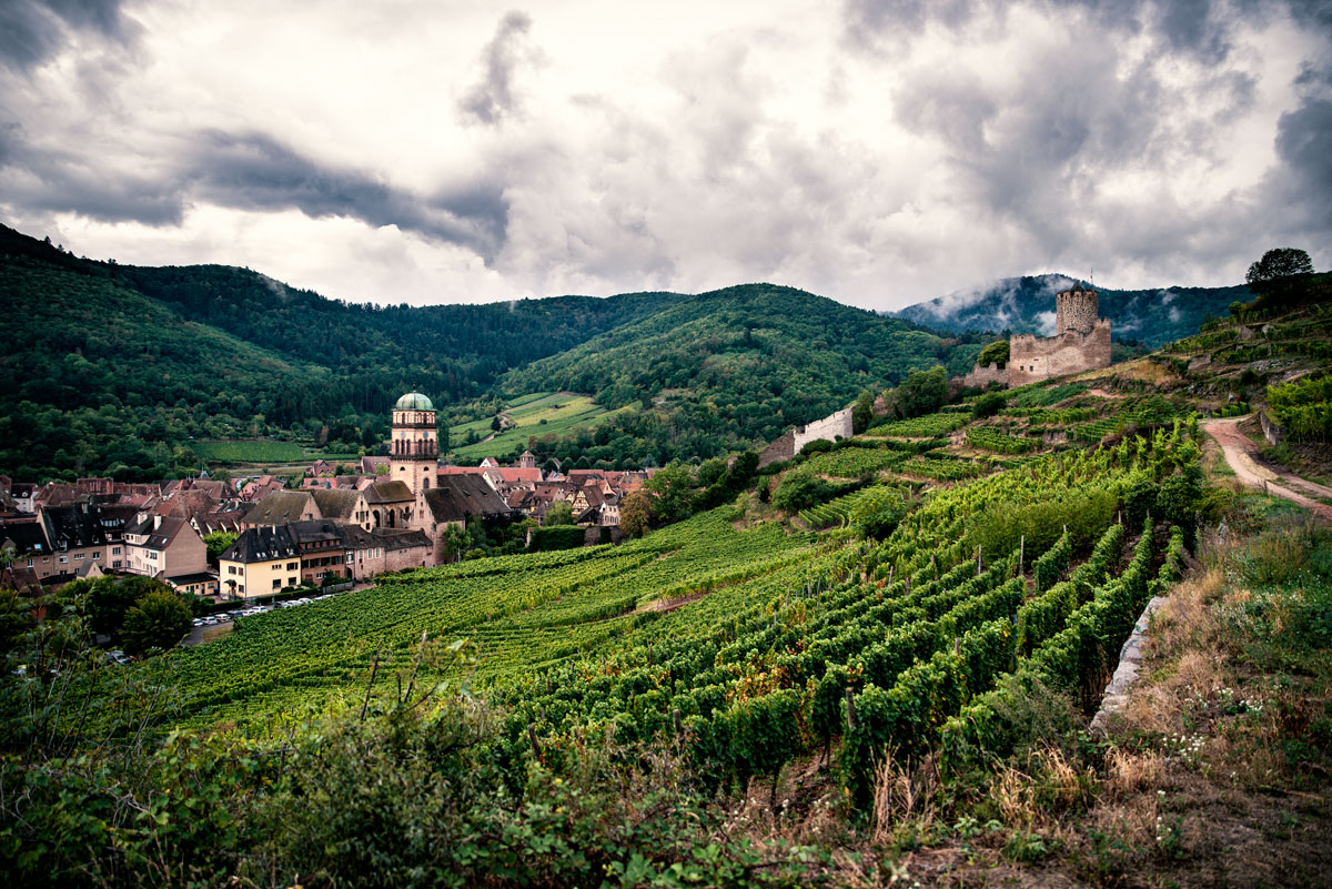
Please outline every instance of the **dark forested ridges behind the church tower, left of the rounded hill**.
[{"label": "dark forested ridges behind the church tower, left of the rounded hill", "polygon": [[0,226],[0,472],[196,468],[189,438],[377,446],[409,389],[441,406],[678,294],[412,309],[346,305],[229,266],[81,260]]}]

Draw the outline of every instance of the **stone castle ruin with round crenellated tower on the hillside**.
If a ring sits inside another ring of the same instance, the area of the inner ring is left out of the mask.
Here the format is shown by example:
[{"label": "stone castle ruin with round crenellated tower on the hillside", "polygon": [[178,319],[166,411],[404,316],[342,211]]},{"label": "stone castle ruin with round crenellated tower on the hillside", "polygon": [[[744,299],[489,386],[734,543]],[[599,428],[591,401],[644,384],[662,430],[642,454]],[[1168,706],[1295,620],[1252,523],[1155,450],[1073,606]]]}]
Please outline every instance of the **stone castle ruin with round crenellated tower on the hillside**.
[{"label": "stone castle ruin with round crenellated tower on the hillside", "polygon": [[1010,389],[1051,377],[1110,367],[1110,318],[1102,318],[1098,294],[1074,283],[1055,294],[1055,335],[1015,334],[1008,339],[1004,367],[972,367],[967,386],[1002,383]]}]

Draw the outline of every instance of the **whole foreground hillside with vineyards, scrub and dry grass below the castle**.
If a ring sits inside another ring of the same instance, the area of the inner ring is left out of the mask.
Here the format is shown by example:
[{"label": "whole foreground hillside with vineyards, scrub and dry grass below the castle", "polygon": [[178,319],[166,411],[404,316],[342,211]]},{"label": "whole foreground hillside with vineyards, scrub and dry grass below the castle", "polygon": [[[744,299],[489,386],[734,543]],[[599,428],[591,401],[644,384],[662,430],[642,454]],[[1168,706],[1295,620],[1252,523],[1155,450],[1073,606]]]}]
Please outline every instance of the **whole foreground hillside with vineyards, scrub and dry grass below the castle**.
[{"label": "whole foreground hillside with vineyards, scrub and dry grass below the castle", "polygon": [[[1320,850],[1332,540],[1241,491],[1197,414],[1265,362],[1325,370],[1327,330],[1325,305],[1255,307],[882,422],[621,546],[397,572],[124,667],[77,644],[113,580],[40,629],[11,606],[0,860],[20,885],[151,862],[201,885],[863,886],[940,861],[968,885],[1195,885],[1217,854],[1265,861],[1219,852],[1251,813],[1263,850]],[[1204,354],[1219,373],[1185,379]],[[1156,596],[1139,705],[1091,735]]]}]

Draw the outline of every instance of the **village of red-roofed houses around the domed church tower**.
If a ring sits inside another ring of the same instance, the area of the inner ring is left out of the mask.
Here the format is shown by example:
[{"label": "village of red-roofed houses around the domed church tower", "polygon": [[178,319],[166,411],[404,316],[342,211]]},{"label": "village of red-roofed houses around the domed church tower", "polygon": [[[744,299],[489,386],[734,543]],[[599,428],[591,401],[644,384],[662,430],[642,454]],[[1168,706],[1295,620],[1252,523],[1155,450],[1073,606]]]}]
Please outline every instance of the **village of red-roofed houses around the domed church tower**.
[{"label": "village of red-roofed houses around the domed church tower", "polygon": [[[619,503],[651,475],[545,471],[530,451],[514,466],[449,466],[436,422],[430,399],[408,393],[393,409],[388,455],[361,458],[356,474],[316,460],[294,488],[269,474],[40,486],[0,476],[0,588],[141,575],[180,594],[248,600],[460,559],[449,535],[469,522],[541,526],[555,504],[585,542],[618,542]],[[205,538],[218,534],[234,539],[210,559]]]}]

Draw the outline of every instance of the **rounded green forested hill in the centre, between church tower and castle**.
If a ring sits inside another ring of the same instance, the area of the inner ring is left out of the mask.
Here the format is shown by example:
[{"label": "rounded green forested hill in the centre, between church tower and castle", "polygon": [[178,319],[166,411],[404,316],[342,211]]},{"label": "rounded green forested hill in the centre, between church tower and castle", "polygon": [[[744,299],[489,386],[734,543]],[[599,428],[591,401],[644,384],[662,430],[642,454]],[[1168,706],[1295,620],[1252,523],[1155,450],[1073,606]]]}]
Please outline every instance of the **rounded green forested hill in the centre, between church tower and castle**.
[{"label": "rounded green forested hill in the centre, between church tower and castle", "polygon": [[[976,345],[817,297],[753,283],[689,297],[558,355],[509,371],[501,386],[590,393],[607,409],[657,407],[663,427],[617,418],[619,431],[669,442],[706,437],[749,446],[848,405],[859,391],[895,385],[911,370],[947,365],[964,373]],[[611,430],[611,438],[617,430]],[[702,441],[690,447],[715,452]],[[642,447],[639,448],[642,450]],[[611,444],[609,452],[626,452]],[[638,452],[638,451],[627,451]]]}]

